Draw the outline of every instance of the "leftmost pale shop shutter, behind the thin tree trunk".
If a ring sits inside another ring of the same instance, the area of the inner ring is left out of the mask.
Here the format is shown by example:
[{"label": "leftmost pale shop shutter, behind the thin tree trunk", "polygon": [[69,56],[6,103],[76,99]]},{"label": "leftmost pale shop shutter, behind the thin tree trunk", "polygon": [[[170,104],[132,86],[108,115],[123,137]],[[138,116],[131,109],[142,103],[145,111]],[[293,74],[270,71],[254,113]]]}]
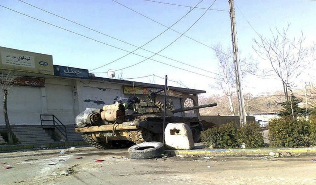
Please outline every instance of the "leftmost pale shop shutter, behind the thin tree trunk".
[{"label": "leftmost pale shop shutter, behind the thin tree trunk", "polygon": [[[0,125],[5,125],[3,117],[3,94],[0,93]],[[9,90],[8,117],[10,125],[40,125],[42,112],[41,88],[14,86]]]}]

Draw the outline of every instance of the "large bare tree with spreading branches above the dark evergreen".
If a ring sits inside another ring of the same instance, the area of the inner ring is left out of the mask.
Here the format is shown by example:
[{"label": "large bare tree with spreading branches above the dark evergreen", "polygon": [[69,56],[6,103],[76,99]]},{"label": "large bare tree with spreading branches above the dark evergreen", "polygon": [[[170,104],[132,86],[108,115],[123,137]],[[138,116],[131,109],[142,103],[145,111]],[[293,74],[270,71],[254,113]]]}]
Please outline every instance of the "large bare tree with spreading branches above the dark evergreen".
[{"label": "large bare tree with spreading branches above the dark evergreen", "polygon": [[289,38],[289,27],[288,23],[287,27],[281,31],[278,28],[275,28],[274,31],[270,29],[272,38],[259,35],[259,39],[253,39],[254,45],[252,46],[262,59],[269,61],[271,72],[282,82],[286,101],[289,98],[289,84],[314,60],[315,52],[315,43],[309,47],[304,46],[303,32],[298,39]]}]

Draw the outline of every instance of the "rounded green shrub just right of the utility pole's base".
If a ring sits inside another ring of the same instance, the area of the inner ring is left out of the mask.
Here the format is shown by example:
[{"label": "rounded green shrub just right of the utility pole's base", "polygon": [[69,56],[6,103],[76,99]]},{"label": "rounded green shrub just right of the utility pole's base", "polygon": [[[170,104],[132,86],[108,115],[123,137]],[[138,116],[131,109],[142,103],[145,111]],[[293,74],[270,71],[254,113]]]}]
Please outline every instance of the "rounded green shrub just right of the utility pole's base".
[{"label": "rounded green shrub just right of the utility pole's base", "polygon": [[264,146],[260,125],[256,122],[248,122],[237,131],[237,142],[245,143],[246,148],[259,148]]}]

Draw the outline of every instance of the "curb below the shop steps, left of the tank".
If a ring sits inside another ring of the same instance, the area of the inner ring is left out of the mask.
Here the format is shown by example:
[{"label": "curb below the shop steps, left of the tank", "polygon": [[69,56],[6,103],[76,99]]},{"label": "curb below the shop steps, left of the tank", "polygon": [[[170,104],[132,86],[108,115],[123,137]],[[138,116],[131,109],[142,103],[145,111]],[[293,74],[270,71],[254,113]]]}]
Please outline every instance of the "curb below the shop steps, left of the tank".
[{"label": "curb below the shop steps, left of the tank", "polygon": [[41,144],[16,144],[16,145],[2,145],[0,146],[0,153],[21,150],[21,149],[33,149],[40,146],[45,146],[47,148],[55,147],[68,147],[68,146],[78,146],[78,145],[88,145],[85,141],[67,141],[67,142],[56,142],[56,143],[41,143]]}]

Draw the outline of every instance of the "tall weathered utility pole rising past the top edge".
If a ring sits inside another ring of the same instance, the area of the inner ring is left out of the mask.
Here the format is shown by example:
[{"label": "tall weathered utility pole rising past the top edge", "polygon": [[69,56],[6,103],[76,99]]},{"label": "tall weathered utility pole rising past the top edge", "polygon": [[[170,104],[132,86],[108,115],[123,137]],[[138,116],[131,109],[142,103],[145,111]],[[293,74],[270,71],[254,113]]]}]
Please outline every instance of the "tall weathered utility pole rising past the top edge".
[{"label": "tall weathered utility pole rising past the top edge", "polygon": [[234,9],[234,0],[228,0],[229,3],[229,15],[230,15],[230,24],[231,24],[231,35],[234,51],[234,65],[235,65],[235,75],[236,75],[236,86],[238,94],[238,104],[239,104],[239,118],[240,126],[246,124],[246,111],[245,111],[245,101],[242,95],[241,81],[240,81],[240,64],[239,64],[239,55],[237,47],[237,37],[236,37],[236,25],[235,25],[235,9]]}]

